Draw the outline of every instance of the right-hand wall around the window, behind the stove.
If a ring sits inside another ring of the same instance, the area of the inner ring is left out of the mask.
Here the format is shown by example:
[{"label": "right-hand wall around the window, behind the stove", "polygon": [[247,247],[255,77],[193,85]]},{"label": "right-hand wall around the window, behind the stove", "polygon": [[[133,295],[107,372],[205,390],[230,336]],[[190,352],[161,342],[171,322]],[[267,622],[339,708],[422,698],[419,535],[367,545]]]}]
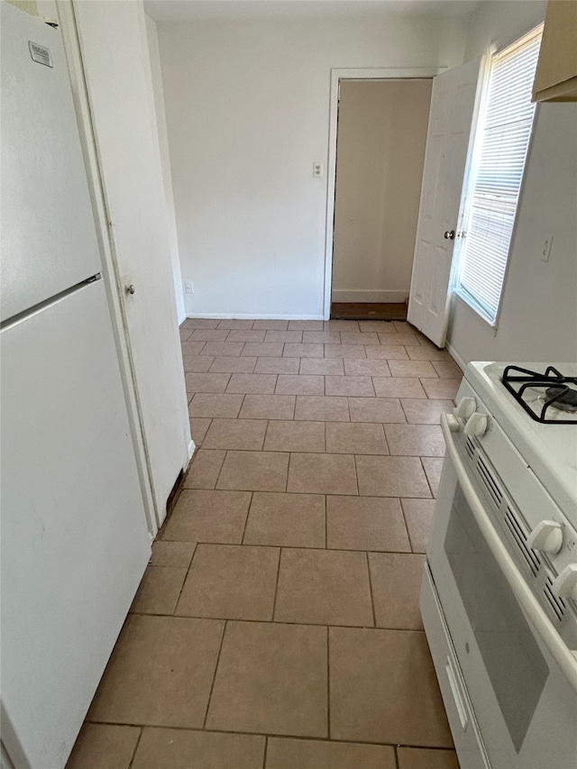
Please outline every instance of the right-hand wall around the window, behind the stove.
[{"label": "right-hand wall around the window, behind the stove", "polygon": [[[498,48],[543,20],[544,3],[483,4],[466,57]],[[577,104],[538,105],[517,209],[499,329],[453,298],[448,341],[463,361],[577,361]],[[553,234],[548,262],[540,254]]]}]

